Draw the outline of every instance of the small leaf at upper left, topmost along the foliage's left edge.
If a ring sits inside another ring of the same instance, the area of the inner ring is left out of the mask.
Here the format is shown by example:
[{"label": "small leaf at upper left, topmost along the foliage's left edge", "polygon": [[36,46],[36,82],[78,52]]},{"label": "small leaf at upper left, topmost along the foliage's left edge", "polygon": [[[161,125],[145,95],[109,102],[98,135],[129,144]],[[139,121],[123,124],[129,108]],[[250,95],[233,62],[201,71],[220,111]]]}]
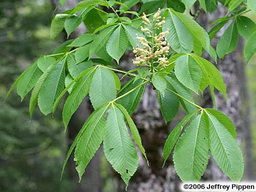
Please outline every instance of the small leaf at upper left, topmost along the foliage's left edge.
[{"label": "small leaf at upper left, topmost along the foliage's left edge", "polygon": [[60,32],[64,29],[65,20],[70,17],[69,14],[57,14],[52,19],[50,27],[50,37],[55,39]]}]

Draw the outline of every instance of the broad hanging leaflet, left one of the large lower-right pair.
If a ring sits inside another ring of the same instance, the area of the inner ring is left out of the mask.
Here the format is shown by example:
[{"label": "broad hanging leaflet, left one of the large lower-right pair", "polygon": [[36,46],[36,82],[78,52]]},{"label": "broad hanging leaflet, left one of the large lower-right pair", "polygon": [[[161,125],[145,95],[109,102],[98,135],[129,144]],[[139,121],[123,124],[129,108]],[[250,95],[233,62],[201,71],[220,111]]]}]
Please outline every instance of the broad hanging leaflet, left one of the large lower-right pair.
[{"label": "broad hanging leaflet, left one of the large lower-right pair", "polygon": [[198,115],[186,128],[174,149],[174,167],[182,181],[198,181],[209,159],[209,139],[204,116]]}]

